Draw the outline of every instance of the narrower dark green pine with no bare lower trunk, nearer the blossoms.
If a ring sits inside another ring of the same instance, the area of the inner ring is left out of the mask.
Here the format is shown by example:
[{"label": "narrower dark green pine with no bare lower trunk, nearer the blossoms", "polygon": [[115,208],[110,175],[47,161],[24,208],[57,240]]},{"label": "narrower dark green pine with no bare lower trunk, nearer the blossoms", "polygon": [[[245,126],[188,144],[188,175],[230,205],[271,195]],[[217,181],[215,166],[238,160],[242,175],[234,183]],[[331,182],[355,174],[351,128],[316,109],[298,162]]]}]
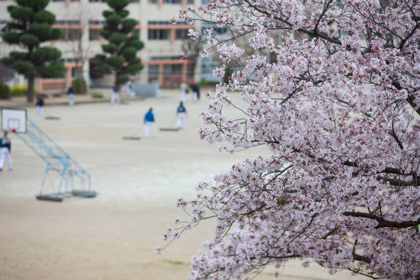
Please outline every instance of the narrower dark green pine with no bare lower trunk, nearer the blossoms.
[{"label": "narrower dark green pine with no bare lower trunk, nearer the blossoms", "polygon": [[129,14],[125,10],[130,0],[107,0],[106,3],[113,10],[106,10],[103,15],[106,24],[101,30],[101,36],[108,40],[102,45],[105,54],[98,54],[97,60],[102,65],[95,67],[99,73],[114,73],[115,81],[119,84],[129,80],[128,75],[135,75],[143,69],[137,51],[143,49],[143,42],[132,31],[138,24],[135,19],[127,19]]}]

